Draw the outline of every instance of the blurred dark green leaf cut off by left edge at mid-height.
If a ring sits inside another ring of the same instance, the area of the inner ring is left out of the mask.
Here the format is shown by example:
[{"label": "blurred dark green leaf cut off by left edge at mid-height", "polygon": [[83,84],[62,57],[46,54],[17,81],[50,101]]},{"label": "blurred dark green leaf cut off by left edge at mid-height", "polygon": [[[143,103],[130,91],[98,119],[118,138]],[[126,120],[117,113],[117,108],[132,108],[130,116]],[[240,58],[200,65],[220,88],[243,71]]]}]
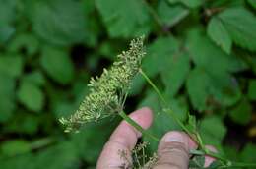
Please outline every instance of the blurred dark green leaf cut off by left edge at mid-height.
[{"label": "blurred dark green leaf cut off by left edge at mid-height", "polygon": [[0,123],[13,115],[15,104],[15,80],[0,71]]}]

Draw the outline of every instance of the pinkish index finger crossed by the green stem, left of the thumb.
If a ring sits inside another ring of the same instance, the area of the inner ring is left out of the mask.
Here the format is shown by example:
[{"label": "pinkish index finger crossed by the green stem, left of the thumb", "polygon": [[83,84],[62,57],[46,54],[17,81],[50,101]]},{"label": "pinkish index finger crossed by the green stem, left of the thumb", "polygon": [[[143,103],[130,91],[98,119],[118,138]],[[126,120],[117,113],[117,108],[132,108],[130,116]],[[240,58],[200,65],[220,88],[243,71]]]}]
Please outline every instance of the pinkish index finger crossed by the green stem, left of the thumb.
[{"label": "pinkish index finger crossed by the green stem, left of the thumb", "polygon": [[[152,111],[142,108],[130,114],[142,128],[147,129],[152,124]],[[131,164],[131,150],[136,145],[141,134],[125,121],[115,129],[97,161],[97,169],[119,169]],[[121,154],[120,154],[121,153]]]}]

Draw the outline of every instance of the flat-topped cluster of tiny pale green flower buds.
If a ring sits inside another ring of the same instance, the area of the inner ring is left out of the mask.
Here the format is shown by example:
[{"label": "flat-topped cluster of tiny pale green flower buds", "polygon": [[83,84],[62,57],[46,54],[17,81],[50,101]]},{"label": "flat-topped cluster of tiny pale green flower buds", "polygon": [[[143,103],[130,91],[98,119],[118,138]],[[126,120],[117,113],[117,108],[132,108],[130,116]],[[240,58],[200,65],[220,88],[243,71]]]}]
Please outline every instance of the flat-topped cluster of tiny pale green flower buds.
[{"label": "flat-topped cluster of tiny pale green flower buds", "polygon": [[90,93],[69,119],[61,118],[65,132],[78,131],[88,122],[97,121],[122,110],[132,79],[138,73],[144,57],[143,37],[134,39],[130,49],[117,56],[117,61],[104,69],[100,77],[90,81]]}]

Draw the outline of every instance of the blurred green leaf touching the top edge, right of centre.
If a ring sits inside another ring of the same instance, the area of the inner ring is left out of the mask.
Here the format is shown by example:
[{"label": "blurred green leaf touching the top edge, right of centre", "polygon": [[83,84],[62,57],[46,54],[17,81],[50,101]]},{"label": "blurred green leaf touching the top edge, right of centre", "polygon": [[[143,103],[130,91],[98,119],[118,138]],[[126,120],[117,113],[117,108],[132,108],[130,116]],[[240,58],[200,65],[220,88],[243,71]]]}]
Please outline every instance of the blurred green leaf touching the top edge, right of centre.
[{"label": "blurred green leaf touching the top edge, right of centre", "polygon": [[165,0],[161,0],[158,5],[158,14],[167,27],[173,27],[188,16],[189,10],[181,5],[169,5]]}]

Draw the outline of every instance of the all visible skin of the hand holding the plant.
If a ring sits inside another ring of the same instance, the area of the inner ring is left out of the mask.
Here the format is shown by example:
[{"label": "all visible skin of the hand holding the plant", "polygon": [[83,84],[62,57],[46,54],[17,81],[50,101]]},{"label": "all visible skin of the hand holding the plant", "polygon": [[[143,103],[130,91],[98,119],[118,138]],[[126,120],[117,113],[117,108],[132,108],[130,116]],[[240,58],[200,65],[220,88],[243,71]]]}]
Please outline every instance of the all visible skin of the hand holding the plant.
[{"label": "all visible skin of the hand holding the plant", "polygon": [[[153,121],[153,113],[149,108],[142,108],[129,115],[142,128],[148,129]],[[122,121],[112,133],[109,141],[103,147],[98,158],[96,169],[129,168],[131,150],[141,137],[135,128]],[[158,148],[158,162],[154,169],[188,169],[189,150],[196,149],[197,144],[183,132],[172,131],[166,133],[160,140]],[[212,146],[209,150],[215,151]],[[127,152],[128,160],[124,160],[120,151]],[[205,167],[209,166],[214,158],[206,156]]]}]

